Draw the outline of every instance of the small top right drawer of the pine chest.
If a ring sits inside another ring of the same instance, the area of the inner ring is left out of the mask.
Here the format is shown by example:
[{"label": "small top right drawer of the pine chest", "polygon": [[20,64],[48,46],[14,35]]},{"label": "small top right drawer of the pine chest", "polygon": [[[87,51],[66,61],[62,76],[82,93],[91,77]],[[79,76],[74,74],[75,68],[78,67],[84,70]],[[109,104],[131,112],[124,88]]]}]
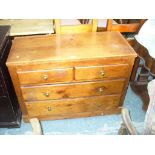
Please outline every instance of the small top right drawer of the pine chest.
[{"label": "small top right drawer of the pine chest", "polygon": [[104,78],[128,77],[127,64],[75,67],[75,80],[92,80]]}]

